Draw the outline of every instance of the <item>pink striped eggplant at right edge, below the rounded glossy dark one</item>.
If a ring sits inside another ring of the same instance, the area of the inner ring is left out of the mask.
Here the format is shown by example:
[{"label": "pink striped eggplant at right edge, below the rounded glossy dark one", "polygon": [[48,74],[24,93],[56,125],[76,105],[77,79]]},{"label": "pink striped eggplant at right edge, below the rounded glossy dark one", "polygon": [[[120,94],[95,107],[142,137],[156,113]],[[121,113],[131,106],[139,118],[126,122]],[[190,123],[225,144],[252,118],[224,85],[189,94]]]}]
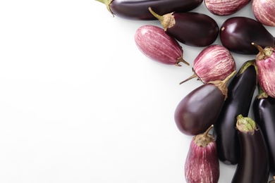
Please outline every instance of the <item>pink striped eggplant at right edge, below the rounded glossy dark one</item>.
[{"label": "pink striped eggplant at right edge, below the rounded glossy dark one", "polygon": [[257,59],[259,84],[264,92],[275,98],[275,49],[271,49],[271,55],[264,59]]}]

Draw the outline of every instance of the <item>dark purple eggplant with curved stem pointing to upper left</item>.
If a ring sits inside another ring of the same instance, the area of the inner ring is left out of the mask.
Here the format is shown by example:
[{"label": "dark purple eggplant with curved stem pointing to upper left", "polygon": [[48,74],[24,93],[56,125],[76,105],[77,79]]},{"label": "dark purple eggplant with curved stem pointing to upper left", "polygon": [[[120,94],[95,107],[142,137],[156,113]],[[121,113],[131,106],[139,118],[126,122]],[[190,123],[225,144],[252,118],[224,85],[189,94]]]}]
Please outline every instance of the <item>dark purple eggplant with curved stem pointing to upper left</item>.
[{"label": "dark purple eggplant with curved stem pointing to upper left", "polygon": [[219,35],[219,25],[209,15],[195,12],[159,15],[153,7],[149,11],[168,34],[188,46],[209,46]]}]

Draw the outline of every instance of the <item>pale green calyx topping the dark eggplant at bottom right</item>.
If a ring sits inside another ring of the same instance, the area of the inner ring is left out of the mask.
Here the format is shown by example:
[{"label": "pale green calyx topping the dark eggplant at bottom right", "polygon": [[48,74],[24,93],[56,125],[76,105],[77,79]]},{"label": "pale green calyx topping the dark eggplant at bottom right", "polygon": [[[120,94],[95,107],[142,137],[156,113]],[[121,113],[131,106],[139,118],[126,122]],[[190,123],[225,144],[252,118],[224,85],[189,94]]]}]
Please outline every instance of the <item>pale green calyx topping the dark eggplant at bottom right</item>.
[{"label": "pale green calyx topping the dark eggplant at bottom right", "polygon": [[248,117],[243,117],[241,114],[237,116],[236,129],[245,134],[247,132],[254,134],[255,130],[258,130],[254,120]]}]

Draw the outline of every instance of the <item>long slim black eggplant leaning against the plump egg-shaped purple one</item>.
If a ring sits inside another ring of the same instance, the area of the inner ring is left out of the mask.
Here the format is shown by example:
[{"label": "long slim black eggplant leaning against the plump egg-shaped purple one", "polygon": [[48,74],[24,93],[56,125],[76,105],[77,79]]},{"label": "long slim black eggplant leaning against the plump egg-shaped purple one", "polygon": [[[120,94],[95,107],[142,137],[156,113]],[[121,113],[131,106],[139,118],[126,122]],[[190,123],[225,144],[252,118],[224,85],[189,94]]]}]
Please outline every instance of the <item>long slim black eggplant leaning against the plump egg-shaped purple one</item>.
[{"label": "long slim black eggplant leaning against the plump egg-shaped purple one", "polygon": [[214,125],[219,160],[227,165],[236,165],[239,158],[236,117],[247,115],[257,87],[255,60],[247,61],[228,85],[228,98]]}]

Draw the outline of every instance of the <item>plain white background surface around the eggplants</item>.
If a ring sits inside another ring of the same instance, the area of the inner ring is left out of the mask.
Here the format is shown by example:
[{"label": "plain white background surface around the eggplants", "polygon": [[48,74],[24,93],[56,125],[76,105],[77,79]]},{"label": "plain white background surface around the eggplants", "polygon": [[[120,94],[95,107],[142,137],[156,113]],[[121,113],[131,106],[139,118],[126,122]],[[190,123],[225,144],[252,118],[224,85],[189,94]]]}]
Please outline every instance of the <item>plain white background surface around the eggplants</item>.
[{"label": "plain white background surface around the eggplants", "polygon": [[[219,26],[230,17],[194,11]],[[236,15],[254,18],[251,4]],[[202,83],[179,85],[192,66],[138,50],[146,24],[161,26],[113,17],[94,0],[0,2],[0,182],[185,182],[192,137],[173,113]],[[202,48],[181,46],[192,65]],[[238,68],[254,58],[233,57]],[[230,182],[236,166],[220,165],[219,182]]]}]

